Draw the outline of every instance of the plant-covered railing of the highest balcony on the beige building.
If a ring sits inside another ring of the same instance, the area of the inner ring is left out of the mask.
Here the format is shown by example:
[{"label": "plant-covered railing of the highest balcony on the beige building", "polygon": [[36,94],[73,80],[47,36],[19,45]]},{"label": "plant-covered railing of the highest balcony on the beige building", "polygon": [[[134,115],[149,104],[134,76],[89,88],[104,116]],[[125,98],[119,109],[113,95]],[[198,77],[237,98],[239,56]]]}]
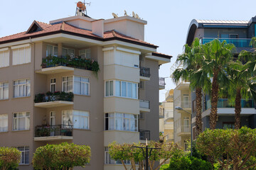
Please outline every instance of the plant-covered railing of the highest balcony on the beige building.
[{"label": "plant-covered railing of the highest balcony on the beige building", "polygon": [[56,57],[56,56],[48,56],[42,60],[41,64],[42,68],[47,67],[57,67],[57,66],[67,66],[74,67],[78,69],[88,69],[93,72],[99,71],[99,64],[90,59],[83,59],[80,56],[76,57]]}]

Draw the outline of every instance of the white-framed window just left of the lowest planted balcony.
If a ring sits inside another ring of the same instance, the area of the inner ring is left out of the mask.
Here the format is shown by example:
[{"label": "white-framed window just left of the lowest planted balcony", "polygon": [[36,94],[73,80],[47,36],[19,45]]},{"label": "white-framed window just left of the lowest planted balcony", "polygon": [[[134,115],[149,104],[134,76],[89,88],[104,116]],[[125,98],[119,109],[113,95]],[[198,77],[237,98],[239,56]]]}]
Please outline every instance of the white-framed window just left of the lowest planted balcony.
[{"label": "white-framed window just left of the lowest planted balcony", "polygon": [[29,130],[30,113],[14,113],[14,130]]}]

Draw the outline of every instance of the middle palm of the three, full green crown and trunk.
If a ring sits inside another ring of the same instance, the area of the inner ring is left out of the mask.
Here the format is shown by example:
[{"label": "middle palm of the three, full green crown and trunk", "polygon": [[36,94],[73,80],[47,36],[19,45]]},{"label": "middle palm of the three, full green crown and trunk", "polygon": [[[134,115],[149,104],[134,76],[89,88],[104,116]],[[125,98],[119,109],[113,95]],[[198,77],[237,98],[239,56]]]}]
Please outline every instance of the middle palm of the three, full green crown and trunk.
[{"label": "middle palm of the three, full green crown and trunk", "polygon": [[225,67],[233,57],[232,50],[235,49],[233,44],[227,44],[225,40],[220,42],[215,39],[203,45],[203,53],[206,57],[203,62],[203,70],[213,77],[210,91],[210,129],[215,129],[217,122],[217,105],[220,84],[227,84]]}]

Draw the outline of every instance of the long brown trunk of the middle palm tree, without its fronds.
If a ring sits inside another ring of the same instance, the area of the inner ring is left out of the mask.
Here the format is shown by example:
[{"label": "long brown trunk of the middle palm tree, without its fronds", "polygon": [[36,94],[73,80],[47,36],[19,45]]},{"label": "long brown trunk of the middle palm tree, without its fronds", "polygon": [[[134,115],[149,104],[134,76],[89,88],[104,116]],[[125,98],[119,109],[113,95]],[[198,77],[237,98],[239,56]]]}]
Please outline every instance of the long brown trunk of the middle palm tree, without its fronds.
[{"label": "long brown trunk of the middle palm tree, without its fronds", "polygon": [[218,69],[213,70],[213,83],[211,89],[211,108],[210,108],[210,129],[214,130],[217,123],[217,106],[218,106]]}]

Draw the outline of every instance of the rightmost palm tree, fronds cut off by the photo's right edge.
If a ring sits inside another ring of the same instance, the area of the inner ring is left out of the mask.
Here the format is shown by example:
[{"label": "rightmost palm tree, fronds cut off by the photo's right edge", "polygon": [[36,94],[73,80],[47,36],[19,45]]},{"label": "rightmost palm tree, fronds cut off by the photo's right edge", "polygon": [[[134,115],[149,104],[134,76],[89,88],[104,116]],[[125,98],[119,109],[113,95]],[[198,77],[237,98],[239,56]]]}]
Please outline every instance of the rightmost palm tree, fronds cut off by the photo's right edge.
[{"label": "rightmost palm tree, fronds cut off by the photo's right edge", "polygon": [[[255,44],[256,39],[252,39],[251,44]],[[253,45],[254,46],[254,45]],[[256,100],[256,84],[255,84],[255,53],[242,51],[238,56],[238,60],[231,61],[228,64],[228,74],[230,75],[229,93],[231,101],[235,100],[235,129],[240,128],[241,98],[249,98],[252,96]]]}]

